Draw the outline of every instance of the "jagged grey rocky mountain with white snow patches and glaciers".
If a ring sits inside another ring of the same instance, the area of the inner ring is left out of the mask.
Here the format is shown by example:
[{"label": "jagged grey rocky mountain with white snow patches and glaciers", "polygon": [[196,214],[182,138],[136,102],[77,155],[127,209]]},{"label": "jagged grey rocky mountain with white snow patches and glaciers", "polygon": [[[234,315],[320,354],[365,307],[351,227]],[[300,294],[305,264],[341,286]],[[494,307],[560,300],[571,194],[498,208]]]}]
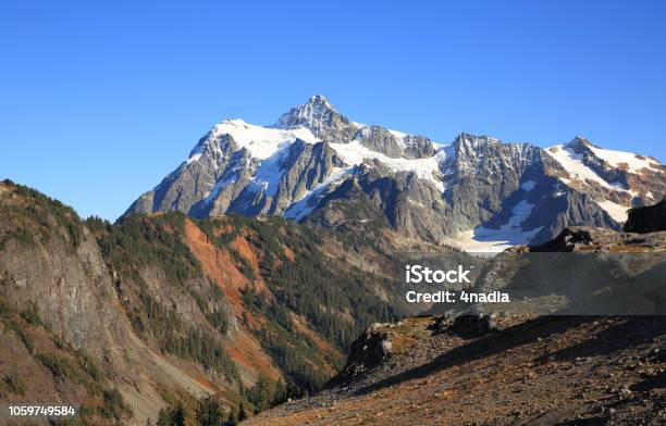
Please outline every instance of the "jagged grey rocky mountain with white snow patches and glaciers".
[{"label": "jagged grey rocky mountain with white snow patches and glaciers", "polygon": [[542,149],[460,134],[433,142],[353,122],[322,96],[273,126],[224,121],[125,215],[282,215],[333,228],[384,226],[469,251],[544,242],[570,225],[619,229],[658,201],[656,159],[577,137]]}]

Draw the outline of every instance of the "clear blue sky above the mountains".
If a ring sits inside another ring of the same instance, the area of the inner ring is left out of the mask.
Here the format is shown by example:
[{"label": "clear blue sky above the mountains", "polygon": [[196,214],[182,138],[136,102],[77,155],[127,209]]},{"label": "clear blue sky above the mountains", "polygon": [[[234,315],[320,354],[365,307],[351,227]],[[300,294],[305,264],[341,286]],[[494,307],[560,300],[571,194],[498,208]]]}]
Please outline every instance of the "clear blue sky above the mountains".
[{"label": "clear blue sky above the mountains", "polygon": [[0,178],[114,220],[215,122],[313,93],[439,141],[666,160],[666,2],[0,3]]}]

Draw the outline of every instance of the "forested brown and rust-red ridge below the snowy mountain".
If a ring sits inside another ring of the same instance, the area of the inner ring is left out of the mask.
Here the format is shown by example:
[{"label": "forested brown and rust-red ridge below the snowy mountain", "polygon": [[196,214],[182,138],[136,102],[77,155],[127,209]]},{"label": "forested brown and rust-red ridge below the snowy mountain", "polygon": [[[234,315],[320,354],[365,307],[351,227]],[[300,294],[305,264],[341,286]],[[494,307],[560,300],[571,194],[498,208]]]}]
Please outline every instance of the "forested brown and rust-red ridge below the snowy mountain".
[{"label": "forested brown and rust-red ridge below the snowy mountain", "polygon": [[144,425],[177,406],[194,418],[207,396],[233,417],[313,392],[365,325],[416,313],[390,279],[400,248],[371,239],[279,216],[81,221],[0,183],[0,399],[81,401],[82,424]]}]

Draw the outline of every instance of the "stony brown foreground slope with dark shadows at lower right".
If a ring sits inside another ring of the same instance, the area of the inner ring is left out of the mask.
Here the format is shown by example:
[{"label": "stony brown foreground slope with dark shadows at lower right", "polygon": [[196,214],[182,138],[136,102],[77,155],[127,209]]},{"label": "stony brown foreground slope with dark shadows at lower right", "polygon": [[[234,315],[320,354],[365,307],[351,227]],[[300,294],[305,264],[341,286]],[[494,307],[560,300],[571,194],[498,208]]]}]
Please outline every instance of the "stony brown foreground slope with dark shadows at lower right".
[{"label": "stony brown foreground slope with dark shadows at lower right", "polygon": [[[663,205],[636,209],[628,227],[659,217]],[[651,233],[565,229],[543,246],[508,254],[666,252],[666,233],[645,230]],[[665,339],[665,316],[481,309],[378,323],[353,343],[345,367],[321,393],[247,424],[662,425]]]}]

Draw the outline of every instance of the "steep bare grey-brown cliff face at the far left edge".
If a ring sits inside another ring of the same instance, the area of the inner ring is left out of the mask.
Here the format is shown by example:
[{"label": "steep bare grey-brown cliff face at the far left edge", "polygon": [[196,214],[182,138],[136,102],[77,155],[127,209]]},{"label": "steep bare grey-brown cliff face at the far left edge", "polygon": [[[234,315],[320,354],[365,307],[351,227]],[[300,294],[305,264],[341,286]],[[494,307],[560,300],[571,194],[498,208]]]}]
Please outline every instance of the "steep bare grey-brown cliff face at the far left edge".
[{"label": "steep bare grey-brown cliff face at the far left edge", "polygon": [[13,384],[1,398],[76,401],[92,423],[127,418],[106,396],[146,386],[132,373],[149,352],[132,339],[97,241],[71,210],[37,193],[0,184],[0,374]]}]

